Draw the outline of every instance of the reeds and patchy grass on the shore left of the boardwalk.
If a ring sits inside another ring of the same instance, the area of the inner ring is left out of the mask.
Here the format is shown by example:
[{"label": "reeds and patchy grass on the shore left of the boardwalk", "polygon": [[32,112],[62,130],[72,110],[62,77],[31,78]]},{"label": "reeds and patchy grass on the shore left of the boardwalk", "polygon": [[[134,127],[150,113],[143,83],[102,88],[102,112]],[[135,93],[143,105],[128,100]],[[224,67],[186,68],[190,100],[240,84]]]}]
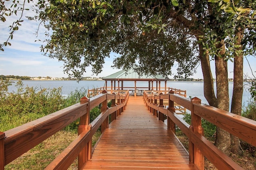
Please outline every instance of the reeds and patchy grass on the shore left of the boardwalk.
[{"label": "reeds and patchy grass on the shore left of the boardwalk", "polygon": [[[76,104],[80,102],[80,98],[87,95],[87,90],[81,88],[63,97],[61,88],[24,88],[21,81],[16,84],[17,92],[9,93],[8,86],[11,84],[12,82],[8,80],[0,82],[0,131],[18,127]],[[93,121],[99,114],[100,106],[90,111],[90,120]],[[42,170],[46,168],[78,136],[78,125],[79,119],[6,165],[5,169]],[[92,137],[93,146],[100,135],[99,130]],[[77,164],[75,160],[69,170],[77,169]]]}]

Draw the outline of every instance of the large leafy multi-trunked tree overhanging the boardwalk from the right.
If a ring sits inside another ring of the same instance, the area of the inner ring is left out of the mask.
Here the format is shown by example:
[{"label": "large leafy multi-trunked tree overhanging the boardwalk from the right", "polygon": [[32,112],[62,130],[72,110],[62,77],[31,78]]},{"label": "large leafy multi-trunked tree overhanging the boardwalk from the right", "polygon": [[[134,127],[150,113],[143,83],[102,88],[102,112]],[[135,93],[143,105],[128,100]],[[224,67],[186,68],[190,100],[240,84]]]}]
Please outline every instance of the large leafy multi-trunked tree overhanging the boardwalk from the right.
[{"label": "large leafy multi-trunked tree overhanging the boardwalk from the right", "polygon": [[[38,16],[53,30],[42,50],[49,57],[64,61],[64,71],[78,78],[89,65],[94,73],[99,73],[105,57],[112,51],[120,53],[114,66],[125,70],[133,66],[139,72],[153,75],[168,76],[170,68],[178,62],[178,74],[189,76],[199,59],[206,100],[226,111],[229,111],[227,61],[234,60],[231,110],[239,114],[242,56],[255,55],[256,49],[255,3],[254,0],[40,0]],[[212,59],[216,96],[210,68]],[[228,154],[230,135],[217,129],[215,144]]]}]

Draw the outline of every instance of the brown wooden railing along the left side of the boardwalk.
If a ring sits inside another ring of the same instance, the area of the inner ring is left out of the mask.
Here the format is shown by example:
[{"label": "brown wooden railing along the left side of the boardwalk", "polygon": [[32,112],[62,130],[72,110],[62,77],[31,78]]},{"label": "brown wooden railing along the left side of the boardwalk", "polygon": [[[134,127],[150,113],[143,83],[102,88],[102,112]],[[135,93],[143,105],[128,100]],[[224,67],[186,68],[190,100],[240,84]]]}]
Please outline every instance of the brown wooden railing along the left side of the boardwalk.
[{"label": "brown wooden railing along the left side of the boardwalk", "polygon": [[[78,157],[78,169],[81,169],[92,154],[92,136],[101,127],[104,131],[110,122],[125,109],[129,92],[115,95],[103,91],[92,98],[82,98],[80,103],[46,115],[14,129],[0,132],[0,170],[4,166],[54,135],[70,123],[80,118],[78,137],[51,162],[46,170],[67,169]],[[108,100],[112,100],[110,108]],[[100,115],[90,123],[90,110],[102,104]]]}]

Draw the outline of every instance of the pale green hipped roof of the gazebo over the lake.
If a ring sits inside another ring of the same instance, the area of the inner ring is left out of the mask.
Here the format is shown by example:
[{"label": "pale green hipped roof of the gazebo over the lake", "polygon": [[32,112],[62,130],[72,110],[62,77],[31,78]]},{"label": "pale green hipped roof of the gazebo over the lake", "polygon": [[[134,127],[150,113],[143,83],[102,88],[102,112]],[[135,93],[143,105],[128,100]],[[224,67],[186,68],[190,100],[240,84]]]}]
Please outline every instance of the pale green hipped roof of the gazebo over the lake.
[{"label": "pale green hipped roof of the gazebo over the lake", "polygon": [[134,71],[133,68],[131,68],[128,71],[118,71],[114,74],[111,74],[109,76],[103,77],[103,80],[126,80],[126,81],[134,81],[134,80],[138,80],[138,81],[155,81],[155,80],[159,80],[159,81],[168,81],[168,79],[164,78],[163,76],[156,76],[156,78],[154,78],[153,76],[146,76],[146,75],[142,75],[139,76],[137,72]]}]

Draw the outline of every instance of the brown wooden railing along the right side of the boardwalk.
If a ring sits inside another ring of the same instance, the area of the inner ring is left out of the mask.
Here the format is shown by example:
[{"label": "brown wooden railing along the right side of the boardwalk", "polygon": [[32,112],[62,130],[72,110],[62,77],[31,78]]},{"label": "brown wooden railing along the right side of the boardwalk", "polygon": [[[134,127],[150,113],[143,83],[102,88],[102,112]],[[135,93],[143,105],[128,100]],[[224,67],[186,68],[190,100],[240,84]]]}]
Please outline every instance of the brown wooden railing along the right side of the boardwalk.
[{"label": "brown wooden railing along the right side of the boardwalk", "polygon": [[[168,100],[168,108],[164,108],[164,100]],[[167,116],[167,127],[173,133],[175,133],[175,125],[177,125],[186,134],[189,138],[190,162],[200,170],[204,169],[204,156],[218,169],[242,169],[203,136],[201,118],[256,146],[256,121],[201,104],[201,100],[196,97],[188,100],[188,98],[175,95],[173,91],[157,96],[150,96],[145,92],[144,101],[148,110],[158,116],[159,120],[164,121],[164,115]],[[191,111],[191,125],[175,113],[174,102]]]}]

